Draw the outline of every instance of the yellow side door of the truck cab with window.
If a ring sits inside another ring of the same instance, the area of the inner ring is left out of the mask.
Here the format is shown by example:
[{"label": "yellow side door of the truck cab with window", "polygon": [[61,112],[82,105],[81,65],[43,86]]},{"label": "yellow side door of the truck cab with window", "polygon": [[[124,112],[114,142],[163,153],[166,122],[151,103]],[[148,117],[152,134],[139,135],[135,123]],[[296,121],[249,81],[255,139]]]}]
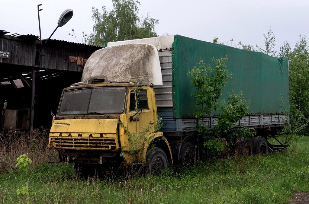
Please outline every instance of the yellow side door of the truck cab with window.
[{"label": "yellow side door of the truck cab with window", "polygon": [[[139,94],[138,94],[139,92]],[[154,124],[156,118],[153,111],[153,103],[155,100],[149,87],[142,87],[140,90],[129,89],[129,98],[127,106],[127,129],[133,134],[136,142],[144,141],[150,133],[154,132]],[[133,138],[131,138],[133,140]],[[137,145],[137,144],[136,144]]]}]

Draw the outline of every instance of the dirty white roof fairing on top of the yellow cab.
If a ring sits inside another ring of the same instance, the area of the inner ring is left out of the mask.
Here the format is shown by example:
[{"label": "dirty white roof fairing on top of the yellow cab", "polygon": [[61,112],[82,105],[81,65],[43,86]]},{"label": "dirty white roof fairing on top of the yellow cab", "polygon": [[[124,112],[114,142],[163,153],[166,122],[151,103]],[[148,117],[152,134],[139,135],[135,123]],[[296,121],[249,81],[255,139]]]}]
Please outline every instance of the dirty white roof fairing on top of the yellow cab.
[{"label": "dirty white roof fairing on top of the yellow cab", "polygon": [[121,44],[95,51],[87,60],[81,82],[95,79],[108,82],[135,82],[141,85],[162,85],[158,51],[150,44]]}]

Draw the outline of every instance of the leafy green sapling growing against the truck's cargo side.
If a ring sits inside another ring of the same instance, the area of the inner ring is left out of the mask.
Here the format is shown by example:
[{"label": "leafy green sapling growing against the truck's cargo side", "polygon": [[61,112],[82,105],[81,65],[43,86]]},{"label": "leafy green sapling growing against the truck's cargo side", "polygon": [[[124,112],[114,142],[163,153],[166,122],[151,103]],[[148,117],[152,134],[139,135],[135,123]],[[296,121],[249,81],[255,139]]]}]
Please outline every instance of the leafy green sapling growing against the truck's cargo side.
[{"label": "leafy green sapling growing against the truck's cargo side", "polygon": [[[206,65],[201,59],[199,66],[194,66],[192,71],[188,72],[188,76],[192,78],[191,85],[196,88],[196,92],[191,95],[196,98],[193,104],[197,110],[193,115],[197,118],[198,135],[204,138],[204,147],[210,155],[221,152],[224,149],[222,135],[226,135],[227,143],[231,144],[231,137],[235,134],[229,134],[231,127],[243,116],[248,114],[249,102],[243,98],[243,94],[229,93],[227,101],[221,100],[222,90],[228,84],[228,79],[231,79],[233,73],[229,73],[226,69],[227,57],[211,59],[214,64]],[[213,111],[220,110],[221,114],[218,116],[218,124],[214,126],[213,130],[209,130],[210,120],[204,121],[204,118],[210,118]],[[246,128],[246,127],[243,127]],[[246,133],[246,134],[242,134]],[[247,134],[248,133],[248,134]],[[238,137],[248,137],[252,135],[253,131],[238,131]]]}]

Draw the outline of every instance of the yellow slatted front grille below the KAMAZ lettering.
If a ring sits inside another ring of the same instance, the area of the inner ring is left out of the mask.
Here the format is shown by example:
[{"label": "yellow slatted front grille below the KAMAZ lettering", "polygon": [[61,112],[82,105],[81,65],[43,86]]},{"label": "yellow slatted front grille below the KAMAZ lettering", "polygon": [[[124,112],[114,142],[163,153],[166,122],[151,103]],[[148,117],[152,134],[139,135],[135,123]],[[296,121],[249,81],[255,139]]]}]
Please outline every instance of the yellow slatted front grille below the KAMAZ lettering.
[{"label": "yellow slatted front grille below the KAMAZ lettering", "polygon": [[51,137],[50,146],[61,149],[116,150],[115,138]]}]

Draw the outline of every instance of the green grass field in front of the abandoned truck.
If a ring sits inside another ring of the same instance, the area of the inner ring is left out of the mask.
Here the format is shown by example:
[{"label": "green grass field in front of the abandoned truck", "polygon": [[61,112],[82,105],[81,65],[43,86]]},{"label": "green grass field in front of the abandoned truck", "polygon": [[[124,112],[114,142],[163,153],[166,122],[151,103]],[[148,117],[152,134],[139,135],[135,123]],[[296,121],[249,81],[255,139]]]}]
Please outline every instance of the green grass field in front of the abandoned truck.
[{"label": "green grass field in front of the abandoned truck", "polygon": [[[309,192],[309,137],[268,156],[213,159],[162,176],[118,181],[80,180],[73,166],[42,163],[28,171],[31,203],[289,203]],[[26,152],[25,152],[26,153]],[[0,200],[26,203],[16,195],[26,184],[18,169],[0,174]]]}]

